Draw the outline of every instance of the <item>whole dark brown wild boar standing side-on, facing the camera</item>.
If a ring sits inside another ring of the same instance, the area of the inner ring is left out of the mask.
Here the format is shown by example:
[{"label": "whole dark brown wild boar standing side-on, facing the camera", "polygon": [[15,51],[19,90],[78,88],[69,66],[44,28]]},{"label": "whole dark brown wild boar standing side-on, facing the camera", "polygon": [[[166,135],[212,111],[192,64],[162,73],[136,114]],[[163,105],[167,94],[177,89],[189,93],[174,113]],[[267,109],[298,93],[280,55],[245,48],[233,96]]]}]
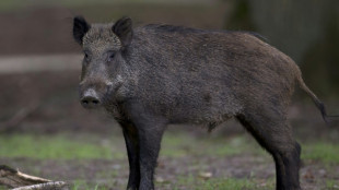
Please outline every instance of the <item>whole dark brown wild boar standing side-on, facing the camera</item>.
[{"label": "whole dark brown wild boar standing side-on, facing the camera", "polygon": [[248,32],[204,31],[129,17],[89,24],[73,20],[84,52],[80,100],[104,107],[122,128],[129,190],[153,190],[162,135],[170,123],[212,130],[230,118],[273,157],[277,190],[300,190],[301,146],[287,120],[297,84],[327,117],[295,62]]}]

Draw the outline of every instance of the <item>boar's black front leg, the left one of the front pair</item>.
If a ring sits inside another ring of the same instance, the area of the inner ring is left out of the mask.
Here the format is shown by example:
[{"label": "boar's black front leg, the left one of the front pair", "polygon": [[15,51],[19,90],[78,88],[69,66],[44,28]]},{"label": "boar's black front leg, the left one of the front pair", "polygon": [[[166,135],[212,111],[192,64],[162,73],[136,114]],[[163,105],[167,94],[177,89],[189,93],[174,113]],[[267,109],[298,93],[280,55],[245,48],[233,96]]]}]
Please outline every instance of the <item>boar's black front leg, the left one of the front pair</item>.
[{"label": "boar's black front leg, the left one of the front pair", "polygon": [[135,126],[130,122],[120,123],[122,127],[124,138],[126,142],[128,162],[129,162],[129,179],[127,190],[137,190],[140,185],[140,165],[139,165],[139,143],[138,133]]}]

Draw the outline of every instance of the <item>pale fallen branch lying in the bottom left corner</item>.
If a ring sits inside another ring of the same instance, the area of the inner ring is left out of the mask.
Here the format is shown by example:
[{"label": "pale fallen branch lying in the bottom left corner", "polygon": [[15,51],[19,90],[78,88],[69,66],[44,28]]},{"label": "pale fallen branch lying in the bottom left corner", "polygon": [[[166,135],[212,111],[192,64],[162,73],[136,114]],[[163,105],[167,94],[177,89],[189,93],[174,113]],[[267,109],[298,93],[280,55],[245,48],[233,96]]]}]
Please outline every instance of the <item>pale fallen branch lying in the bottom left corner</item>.
[{"label": "pale fallen branch lying in the bottom left corner", "polygon": [[30,176],[4,165],[0,165],[0,185],[15,188],[13,190],[68,190],[63,181]]}]

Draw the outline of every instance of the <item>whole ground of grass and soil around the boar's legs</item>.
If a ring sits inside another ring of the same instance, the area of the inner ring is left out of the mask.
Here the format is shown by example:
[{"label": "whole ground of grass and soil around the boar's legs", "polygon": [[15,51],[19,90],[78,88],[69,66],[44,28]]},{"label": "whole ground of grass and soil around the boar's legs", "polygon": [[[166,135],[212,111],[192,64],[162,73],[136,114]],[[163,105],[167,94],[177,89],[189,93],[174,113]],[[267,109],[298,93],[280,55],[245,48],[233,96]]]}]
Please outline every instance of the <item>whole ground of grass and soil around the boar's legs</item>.
[{"label": "whole ground of grass and soil around the boar's legs", "polygon": [[[273,189],[273,162],[248,134],[219,134],[222,129],[208,134],[194,127],[180,128],[171,127],[164,136],[155,175],[157,189]],[[120,130],[110,132],[1,134],[0,154],[5,156],[0,163],[66,180],[72,189],[124,189],[128,178],[124,139]],[[338,189],[338,144],[325,140],[302,144],[302,187]]]}]

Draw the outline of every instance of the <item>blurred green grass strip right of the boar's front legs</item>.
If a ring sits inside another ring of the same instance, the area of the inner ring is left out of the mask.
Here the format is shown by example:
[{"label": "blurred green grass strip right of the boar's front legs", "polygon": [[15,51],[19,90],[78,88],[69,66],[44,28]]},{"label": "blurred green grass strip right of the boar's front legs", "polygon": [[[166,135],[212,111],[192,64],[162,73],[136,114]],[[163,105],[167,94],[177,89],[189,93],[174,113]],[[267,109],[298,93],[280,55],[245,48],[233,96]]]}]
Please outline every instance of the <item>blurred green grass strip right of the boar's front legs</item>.
[{"label": "blurred green grass strip right of the boar's front legs", "polygon": [[[194,136],[185,133],[165,134],[162,143],[161,156],[232,156],[250,154],[269,157],[249,135],[233,138]],[[339,164],[339,144],[322,140],[318,142],[302,142],[302,159],[317,161],[324,164]]]}]

